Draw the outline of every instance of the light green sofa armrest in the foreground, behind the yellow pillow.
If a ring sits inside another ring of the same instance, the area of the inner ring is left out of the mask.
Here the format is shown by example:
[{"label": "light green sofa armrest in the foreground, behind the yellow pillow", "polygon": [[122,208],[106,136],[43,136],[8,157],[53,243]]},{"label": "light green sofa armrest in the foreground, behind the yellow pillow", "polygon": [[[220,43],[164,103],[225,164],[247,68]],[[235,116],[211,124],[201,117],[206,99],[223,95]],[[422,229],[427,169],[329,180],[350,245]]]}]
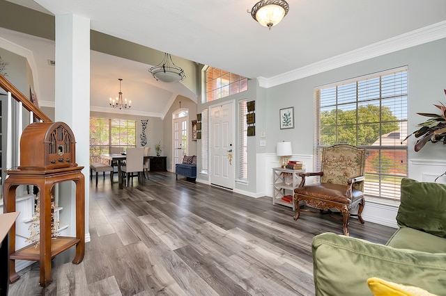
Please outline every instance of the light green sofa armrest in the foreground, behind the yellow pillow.
[{"label": "light green sofa armrest in the foreground, behind the yellow pillow", "polygon": [[316,295],[370,295],[370,277],[439,295],[446,290],[444,253],[395,249],[334,233],[315,236],[312,252]]}]

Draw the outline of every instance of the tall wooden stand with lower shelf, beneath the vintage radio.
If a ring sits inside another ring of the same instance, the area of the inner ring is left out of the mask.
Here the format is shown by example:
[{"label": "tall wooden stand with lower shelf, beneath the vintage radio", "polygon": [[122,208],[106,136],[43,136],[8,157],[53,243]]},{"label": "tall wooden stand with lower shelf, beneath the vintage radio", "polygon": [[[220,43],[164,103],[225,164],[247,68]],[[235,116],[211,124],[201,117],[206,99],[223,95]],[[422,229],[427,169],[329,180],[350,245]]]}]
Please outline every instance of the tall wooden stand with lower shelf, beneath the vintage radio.
[{"label": "tall wooden stand with lower shelf, beneath the vintage radio", "polygon": [[[84,167],[64,167],[54,170],[10,170],[3,184],[3,212],[15,212],[15,190],[20,185],[35,185],[40,191],[40,242],[15,251],[15,226],[10,229],[9,279],[13,283],[20,278],[15,272],[15,260],[31,260],[40,263],[40,286],[52,283],[51,259],[76,245],[72,263],[79,264],[85,252],[85,178]],[[55,183],[74,181],[76,184],[76,236],[58,236],[52,239],[51,191]]]}]

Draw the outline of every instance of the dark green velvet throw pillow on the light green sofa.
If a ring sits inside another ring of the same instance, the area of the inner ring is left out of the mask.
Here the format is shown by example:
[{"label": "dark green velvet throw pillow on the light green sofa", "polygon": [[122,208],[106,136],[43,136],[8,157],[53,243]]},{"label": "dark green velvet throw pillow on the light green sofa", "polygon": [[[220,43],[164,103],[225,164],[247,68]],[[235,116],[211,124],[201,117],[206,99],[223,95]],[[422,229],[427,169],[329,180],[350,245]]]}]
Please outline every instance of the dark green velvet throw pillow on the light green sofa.
[{"label": "dark green velvet throw pillow on the light green sofa", "polygon": [[446,238],[446,186],[408,178],[401,180],[397,222],[399,227]]}]

